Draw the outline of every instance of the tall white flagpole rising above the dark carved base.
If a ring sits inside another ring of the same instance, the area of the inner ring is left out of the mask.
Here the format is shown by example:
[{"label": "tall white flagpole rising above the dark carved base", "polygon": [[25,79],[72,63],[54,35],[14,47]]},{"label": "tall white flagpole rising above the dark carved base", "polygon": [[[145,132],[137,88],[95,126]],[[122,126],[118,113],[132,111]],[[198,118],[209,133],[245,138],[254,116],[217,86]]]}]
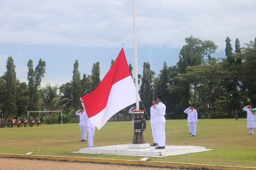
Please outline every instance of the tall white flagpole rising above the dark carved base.
[{"label": "tall white flagpole rising above the dark carved base", "polygon": [[139,109],[139,87],[138,87],[138,62],[137,62],[137,39],[136,39],[136,20],[135,20],[135,0],[132,0],[133,18],[133,40],[134,40],[134,61],[135,61],[135,87],[136,87],[136,110]]}]

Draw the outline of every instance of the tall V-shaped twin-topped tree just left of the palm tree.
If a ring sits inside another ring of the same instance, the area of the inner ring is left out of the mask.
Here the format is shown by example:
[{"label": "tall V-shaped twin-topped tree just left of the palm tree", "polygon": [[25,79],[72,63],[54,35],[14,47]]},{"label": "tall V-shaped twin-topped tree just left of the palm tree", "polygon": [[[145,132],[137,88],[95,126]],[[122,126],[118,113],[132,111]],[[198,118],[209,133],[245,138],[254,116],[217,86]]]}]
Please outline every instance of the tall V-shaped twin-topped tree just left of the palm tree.
[{"label": "tall V-shaped twin-topped tree just left of the palm tree", "polygon": [[39,59],[36,69],[33,69],[33,61],[28,61],[28,89],[29,89],[29,103],[28,111],[38,111],[39,98],[38,88],[41,86],[42,77],[44,77],[46,62]]}]

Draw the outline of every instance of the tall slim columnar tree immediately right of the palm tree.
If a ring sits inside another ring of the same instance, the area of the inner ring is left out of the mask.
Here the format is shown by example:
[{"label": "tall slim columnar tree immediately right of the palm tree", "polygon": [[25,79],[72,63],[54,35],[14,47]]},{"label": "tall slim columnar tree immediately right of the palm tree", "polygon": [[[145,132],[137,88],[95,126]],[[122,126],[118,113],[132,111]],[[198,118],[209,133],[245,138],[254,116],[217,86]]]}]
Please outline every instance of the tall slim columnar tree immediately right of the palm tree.
[{"label": "tall slim columnar tree immediately right of the palm tree", "polygon": [[80,72],[78,71],[78,61],[76,59],[76,62],[74,63],[74,69],[73,69],[73,81],[72,81],[72,107],[74,110],[78,110],[81,107],[81,101],[80,97],[82,94],[82,87],[81,87],[81,77]]}]

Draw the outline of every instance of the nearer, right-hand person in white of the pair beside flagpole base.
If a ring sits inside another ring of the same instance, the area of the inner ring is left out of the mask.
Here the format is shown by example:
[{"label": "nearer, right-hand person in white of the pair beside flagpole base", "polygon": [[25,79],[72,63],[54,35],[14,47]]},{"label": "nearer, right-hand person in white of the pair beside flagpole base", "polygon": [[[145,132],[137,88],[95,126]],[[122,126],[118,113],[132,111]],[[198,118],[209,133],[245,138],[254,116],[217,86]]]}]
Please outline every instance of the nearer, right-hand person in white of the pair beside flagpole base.
[{"label": "nearer, right-hand person in white of the pair beside flagpole base", "polygon": [[162,96],[156,97],[157,105],[155,106],[154,110],[154,119],[156,121],[156,138],[158,140],[158,147],[156,149],[165,149],[165,113],[166,113],[166,106],[163,101]]}]

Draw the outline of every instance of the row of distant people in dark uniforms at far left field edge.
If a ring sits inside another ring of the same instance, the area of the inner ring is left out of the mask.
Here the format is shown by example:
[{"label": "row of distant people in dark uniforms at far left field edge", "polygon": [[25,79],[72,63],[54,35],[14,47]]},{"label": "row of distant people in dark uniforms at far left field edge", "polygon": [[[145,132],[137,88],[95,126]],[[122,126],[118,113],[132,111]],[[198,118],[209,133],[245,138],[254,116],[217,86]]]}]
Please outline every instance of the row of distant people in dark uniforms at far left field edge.
[{"label": "row of distant people in dark uniforms at far left field edge", "polygon": [[37,126],[41,124],[39,116],[37,117],[36,120],[34,120],[32,116],[30,116],[28,120],[26,119],[26,117],[23,117],[22,119],[20,117],[17,117],[17,119],[13,119],[13,117],[7,117],[7,119],[5,119],[5,117],[2,117],[2,119],[0,119],[0,127],[12,128],[12,127],[15,127],[16,125],[17,127],[22,127],[22,121],[24,123],[24,127],[27,127],[28,125],[30,127],[33,127],[35,123],[37,124]]}]

